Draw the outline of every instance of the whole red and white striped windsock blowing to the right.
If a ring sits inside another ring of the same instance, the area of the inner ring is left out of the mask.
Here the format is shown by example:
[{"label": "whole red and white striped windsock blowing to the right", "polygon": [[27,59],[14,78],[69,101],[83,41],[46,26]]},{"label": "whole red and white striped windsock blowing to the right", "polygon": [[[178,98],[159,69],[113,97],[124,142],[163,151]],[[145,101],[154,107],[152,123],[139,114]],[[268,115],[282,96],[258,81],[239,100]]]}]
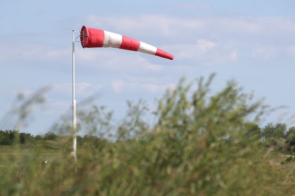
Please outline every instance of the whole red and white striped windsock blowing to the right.
[{"label": "whole red and white striped windsock blowing to the right", "polygon": [[80,40],[83,48],[112,47],[117,49],[140,51],[171,60],[174,58],[173,55],[165,52],[164,50],[158,49],[139,40],[86,26],[83,26],[81,29]]}]

